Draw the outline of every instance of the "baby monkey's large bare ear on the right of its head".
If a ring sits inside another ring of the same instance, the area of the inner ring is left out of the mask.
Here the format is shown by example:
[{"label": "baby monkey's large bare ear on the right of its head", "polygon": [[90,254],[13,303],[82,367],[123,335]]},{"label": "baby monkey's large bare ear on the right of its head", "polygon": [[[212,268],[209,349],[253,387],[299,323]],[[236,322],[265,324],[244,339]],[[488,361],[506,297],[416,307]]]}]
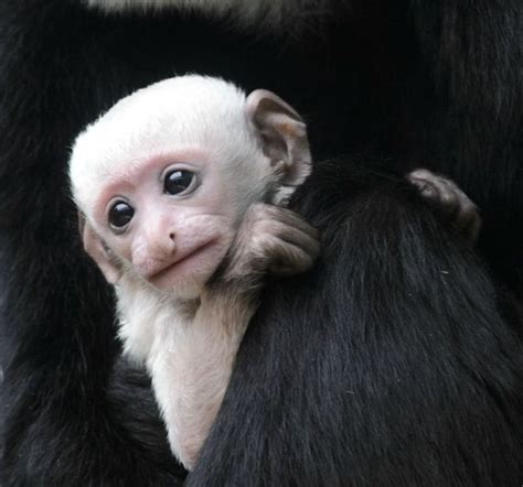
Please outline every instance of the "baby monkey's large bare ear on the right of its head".
[{"label": "baby monkey's large bare ear on the right of its head", "polygon": [[281,166],[281,183],[301,184],[309,175],[311,164],[307,127],[301,117],[266,89],[257,89],[247,97],[246,110],[262,137],[264,153],[275,166]]}]

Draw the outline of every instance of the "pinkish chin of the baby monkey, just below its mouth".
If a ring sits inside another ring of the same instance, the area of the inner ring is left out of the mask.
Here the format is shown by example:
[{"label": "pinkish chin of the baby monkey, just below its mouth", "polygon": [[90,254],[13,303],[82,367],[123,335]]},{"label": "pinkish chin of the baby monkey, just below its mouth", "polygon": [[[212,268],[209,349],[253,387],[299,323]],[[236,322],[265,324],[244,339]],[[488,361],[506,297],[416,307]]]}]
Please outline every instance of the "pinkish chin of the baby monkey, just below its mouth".
[{"label": "pinkish chin of the baby monkey, just below its mouth", "polygon": [[147,282],[166,297],[194,300],[216,272],[227,250],[228,242],[212,240],[157,272]]}]

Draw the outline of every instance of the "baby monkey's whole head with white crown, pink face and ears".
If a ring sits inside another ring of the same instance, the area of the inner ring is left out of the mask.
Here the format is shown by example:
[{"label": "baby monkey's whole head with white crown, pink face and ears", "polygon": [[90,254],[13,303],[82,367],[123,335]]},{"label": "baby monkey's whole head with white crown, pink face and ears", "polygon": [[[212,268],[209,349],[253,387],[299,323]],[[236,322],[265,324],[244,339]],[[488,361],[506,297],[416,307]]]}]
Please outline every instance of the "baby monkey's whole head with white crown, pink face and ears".
[{"label": "baby monkey's whole head with white crown, pink face and ears", "polygon": [[107,281],[182,299],[216,271],[246,209],[285,199],[309,171],[289,105],[202,76],[124,98],[78,136],[70,163],[84,247]]}]

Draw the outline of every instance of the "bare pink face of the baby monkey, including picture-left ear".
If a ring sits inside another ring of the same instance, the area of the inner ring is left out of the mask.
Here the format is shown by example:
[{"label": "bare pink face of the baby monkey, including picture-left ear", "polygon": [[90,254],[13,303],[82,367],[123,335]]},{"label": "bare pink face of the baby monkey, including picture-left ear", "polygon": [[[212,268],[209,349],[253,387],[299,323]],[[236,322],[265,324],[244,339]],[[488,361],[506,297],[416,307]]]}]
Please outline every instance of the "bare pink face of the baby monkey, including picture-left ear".
[{"label": "bare pink face of the baby monkey, including picture-left ear", "polygon": [[86,249],[109,282],[131,275],[180,297],[198,295],[246,206],[230,197],[227,184],[223,167],[195,150],[116,173],[84,229]]}]

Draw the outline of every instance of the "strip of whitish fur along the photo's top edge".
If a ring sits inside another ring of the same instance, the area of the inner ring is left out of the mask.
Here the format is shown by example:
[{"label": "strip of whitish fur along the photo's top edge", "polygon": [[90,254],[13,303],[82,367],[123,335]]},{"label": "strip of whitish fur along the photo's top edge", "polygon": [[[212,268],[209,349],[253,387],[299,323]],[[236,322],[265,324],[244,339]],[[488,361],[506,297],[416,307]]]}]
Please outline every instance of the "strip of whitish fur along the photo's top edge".
[{"label": "strip of whitish fur along the photo's top edge", "polygon": [[88,7],[107,13],[174,9],[181,13],[227,17],[238,25],[276,29],[307,25],[311,19],[328,14],[330,3],[331,0],[87,0]]}]

